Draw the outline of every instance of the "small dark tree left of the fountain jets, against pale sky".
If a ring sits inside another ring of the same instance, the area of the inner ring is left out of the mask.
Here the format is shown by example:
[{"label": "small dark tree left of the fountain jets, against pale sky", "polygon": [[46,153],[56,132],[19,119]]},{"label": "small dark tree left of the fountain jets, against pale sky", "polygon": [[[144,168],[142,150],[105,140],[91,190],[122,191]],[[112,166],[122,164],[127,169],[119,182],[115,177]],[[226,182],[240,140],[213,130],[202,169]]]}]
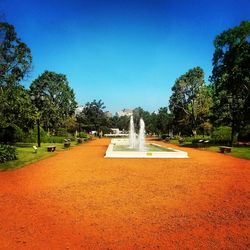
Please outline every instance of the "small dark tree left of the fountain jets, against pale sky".
[{"label": "small dark tree left of the fountain jets, against pale sky", "polygon": [[84,124],[88,130],[99,131],[101,127],[107,126],[105,108],[102,100],[87,102],[82,112],[77,116],[78,123]]}]

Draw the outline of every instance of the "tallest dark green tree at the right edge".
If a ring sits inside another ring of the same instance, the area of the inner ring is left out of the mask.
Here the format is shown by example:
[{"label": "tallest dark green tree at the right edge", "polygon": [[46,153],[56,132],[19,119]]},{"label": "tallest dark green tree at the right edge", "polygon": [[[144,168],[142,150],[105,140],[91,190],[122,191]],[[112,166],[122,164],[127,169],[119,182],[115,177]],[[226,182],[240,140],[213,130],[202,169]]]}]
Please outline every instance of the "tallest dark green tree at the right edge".
[{"label": "tallest dark green tree at the right edge", "polygon": [[217,123],[232,128],[231,145],[240,129],[249,124],[250,22],[219,34],[214,40],[212,86]]}]

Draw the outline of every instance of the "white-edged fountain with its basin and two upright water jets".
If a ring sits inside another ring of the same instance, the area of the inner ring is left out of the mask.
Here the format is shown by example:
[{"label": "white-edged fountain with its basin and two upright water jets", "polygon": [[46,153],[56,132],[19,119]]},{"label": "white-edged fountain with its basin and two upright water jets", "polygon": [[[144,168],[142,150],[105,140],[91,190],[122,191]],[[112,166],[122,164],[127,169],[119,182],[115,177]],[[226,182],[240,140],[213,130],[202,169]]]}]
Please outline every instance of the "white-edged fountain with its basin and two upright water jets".
[{"label": "white-edged fountain with its basin and two upright water jets", "polygon": [[145,123],[140,118],[138,135],[135,132],[133,116],[130,117],[129,138],[112,139],[105,158],[188,158],[186,152],[165,148],[155,143],[145,142]]}]

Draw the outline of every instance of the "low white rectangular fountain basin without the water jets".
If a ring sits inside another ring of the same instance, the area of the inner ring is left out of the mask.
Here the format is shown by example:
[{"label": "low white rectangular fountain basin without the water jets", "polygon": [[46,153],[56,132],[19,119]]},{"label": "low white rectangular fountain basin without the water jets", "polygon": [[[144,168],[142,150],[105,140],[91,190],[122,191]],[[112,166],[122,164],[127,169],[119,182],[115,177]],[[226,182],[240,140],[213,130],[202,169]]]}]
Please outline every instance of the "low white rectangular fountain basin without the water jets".
[{"label": "low white rectangular fountain basin without the water jets", "polygon": [[129,147],[128,139],[112,139],[105,158],[188,158],[187,152],[146,143],[143,150]]}]

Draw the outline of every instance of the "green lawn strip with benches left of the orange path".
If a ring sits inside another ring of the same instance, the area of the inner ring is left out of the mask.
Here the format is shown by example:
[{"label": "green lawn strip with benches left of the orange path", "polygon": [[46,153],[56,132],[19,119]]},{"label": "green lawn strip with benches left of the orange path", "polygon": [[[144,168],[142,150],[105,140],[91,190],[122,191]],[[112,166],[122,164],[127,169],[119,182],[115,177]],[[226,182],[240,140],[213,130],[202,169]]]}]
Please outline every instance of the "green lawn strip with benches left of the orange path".
[{"label": "green lawn strip with benches left of the orange path", "polygon": [[[41,147],[37,149],[37,153],[34,152],[33,145],[35,143],[17,143],[15,145],[17,149],[17,160],[7,161],[0,164],[0,171],[14,170],[21,168],[27,164],[51,157],[58,151],[68,150],[65,149],[63,143],[41,143]],[[47,146],[55,145],[55,152],[47,152]],[[72,141],[70,147],[76,146],[77,143]]]}]

